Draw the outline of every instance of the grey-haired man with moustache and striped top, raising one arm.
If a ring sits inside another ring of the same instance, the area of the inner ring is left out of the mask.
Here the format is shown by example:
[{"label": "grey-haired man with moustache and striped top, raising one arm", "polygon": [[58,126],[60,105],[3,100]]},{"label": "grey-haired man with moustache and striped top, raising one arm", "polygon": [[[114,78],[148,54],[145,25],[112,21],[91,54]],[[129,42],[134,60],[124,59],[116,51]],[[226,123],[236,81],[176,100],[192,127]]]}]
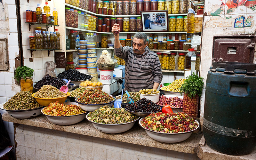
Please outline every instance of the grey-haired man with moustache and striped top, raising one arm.
[{"label": "grey-haired man with moustache and striped top, raising one arm", "polygon": [[119,25],[114,24],[114,51],[117,57],[125,60],[125,90],[139,92],[140,89],[157,89],[162,82],[163,73],[157,54],[147,46],[147,35],[138,32],[133,36],[132,47],[122,47],[119,31]]}]

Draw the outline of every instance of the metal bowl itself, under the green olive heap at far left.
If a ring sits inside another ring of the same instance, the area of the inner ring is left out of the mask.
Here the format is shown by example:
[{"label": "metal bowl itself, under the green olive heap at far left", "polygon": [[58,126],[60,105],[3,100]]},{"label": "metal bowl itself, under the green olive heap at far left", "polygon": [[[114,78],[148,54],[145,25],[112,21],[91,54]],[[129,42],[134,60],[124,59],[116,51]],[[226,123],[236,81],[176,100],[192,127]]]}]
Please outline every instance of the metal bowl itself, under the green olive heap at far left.
[{"label": "metal bowl itself, under the green olive heap at far left", "polygon": [[44,108],[44,107],[38,107],[38,108],[26,109],[26,110],[7,110],[7,109],[4,109],[4,103],[0,104],[0,109],[7,111],[7,113],[12,117],[19,118],[19,119],[26,119],[26,118],[39,116],[41,114],[40,110]]}]

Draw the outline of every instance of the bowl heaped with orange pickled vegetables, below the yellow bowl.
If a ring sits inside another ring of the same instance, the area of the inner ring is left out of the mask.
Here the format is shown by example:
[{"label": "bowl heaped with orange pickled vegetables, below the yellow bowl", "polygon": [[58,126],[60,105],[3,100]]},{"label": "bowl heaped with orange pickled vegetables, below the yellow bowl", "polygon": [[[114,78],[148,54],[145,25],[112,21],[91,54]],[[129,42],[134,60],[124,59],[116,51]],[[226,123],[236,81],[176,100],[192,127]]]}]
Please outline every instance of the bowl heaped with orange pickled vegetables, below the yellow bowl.
[{"label": "bowl heaped with orange pickled vegetables, below the yellow bowl", "polygon": [[59,103],[57,101],[42,108],[41,113],[53,124],[71,125],[81,122],[88,112],[81,109],[77,103]]}]

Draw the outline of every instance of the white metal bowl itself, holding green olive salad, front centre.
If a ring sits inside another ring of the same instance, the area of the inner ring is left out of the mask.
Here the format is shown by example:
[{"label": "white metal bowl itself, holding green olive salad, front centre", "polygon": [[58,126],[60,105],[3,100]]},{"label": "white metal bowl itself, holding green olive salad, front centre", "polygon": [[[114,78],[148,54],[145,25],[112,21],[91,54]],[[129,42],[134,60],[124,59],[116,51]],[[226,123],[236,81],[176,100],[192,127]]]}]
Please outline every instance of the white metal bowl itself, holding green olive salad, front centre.
[{"label": "white metal bowl itself, holding green olive salad, front centre", "polygon": [[122,133],[122,132],[128,131],[129,129],[132,128],[132,126],[135,124],[135,122],[137,122],[140,119],[140,117],[138,117],[138,119],[136,119],[132,122],[129,122],[129,123],[124,123],[124,124],[101,124],[101,123],[96,123],[96,122],[89,120],[87,118],[87,116],[88,116],[88,114],[86,115],[86,119],[92,123],[94,128],[96,128],[100,132],[111,133],[111,134]]}]

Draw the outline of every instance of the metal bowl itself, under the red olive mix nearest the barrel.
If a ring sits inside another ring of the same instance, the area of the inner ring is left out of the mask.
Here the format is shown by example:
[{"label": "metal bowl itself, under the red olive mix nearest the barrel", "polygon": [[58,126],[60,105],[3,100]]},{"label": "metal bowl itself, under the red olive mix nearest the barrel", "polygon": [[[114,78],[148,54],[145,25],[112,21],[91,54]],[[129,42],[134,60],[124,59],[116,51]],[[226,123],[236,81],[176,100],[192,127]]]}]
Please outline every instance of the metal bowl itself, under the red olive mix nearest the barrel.
[{"label": "metal bowl itself, under the red olive mix nearest the barrel", "polygon": [[141,125],[141,121],[143,120],[143,118],[144,117],[140,118],[140,121],[139,121],[140,127],[145,129],[145,131],[149,137],[151,137],[154,140],[164,142],[164,143],[177,143],[177,142],[181,142],[183,140],[187,140],[190,137],[190,135],[192,134],[192,132],[196,131],[200,127],[200,124],[198,123],[198,121],[195,120],[196,123],[198,124],[198,126],[196,129],[194,129],[192,131],[182,132],[182,133],[162,133],[162,132],[151,131],[149,129],[144,128]]}]

